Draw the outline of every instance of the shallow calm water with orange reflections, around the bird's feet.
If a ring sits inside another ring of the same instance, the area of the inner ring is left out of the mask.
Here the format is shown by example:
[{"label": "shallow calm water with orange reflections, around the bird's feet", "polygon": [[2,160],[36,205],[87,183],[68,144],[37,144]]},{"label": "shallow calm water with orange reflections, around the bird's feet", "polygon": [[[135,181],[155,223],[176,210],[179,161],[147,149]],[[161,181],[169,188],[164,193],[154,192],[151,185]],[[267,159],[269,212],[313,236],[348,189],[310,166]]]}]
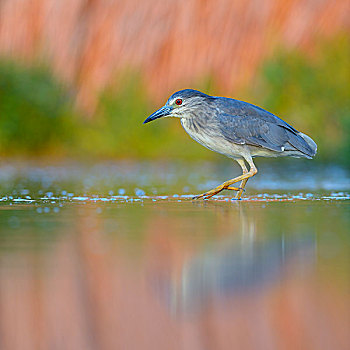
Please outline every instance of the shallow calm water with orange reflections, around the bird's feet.
[{"label": "shallow calm water with orange reflections, around the bird's feet", "polygon": [[295,164],[4,164],[0,348],[348,349],[349,173]]}]

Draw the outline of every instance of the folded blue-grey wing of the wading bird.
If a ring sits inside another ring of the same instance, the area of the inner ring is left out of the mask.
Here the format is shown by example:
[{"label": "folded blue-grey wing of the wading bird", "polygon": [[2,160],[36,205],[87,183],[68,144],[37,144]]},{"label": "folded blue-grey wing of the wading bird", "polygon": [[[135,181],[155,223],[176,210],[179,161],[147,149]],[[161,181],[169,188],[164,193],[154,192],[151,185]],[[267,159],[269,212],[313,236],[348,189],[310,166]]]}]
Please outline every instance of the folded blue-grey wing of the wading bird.
[{"label": "folded blue-grey wing of the wading bird", "polygon": [[299,131],[272,113],[246,102],[223,100],[220,108],[223,113],[217,117],[226,140],[276,152],[298,150],[307,155],[313,153]]}]

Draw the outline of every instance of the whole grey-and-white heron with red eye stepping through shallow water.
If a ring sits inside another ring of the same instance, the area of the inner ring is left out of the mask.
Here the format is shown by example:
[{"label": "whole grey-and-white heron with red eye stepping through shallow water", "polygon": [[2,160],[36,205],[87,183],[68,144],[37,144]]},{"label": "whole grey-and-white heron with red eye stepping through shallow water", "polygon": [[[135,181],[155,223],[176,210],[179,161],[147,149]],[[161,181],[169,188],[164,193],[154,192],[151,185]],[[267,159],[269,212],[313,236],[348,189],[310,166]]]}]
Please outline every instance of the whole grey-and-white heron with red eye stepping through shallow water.
[{"label": "whole grey-and-white heron with red eye stepping through shallow water", "polygon": [[[255,157],[312,159],[317,152],[311,137],[281,118],[254,104],[229,97],[210,96],[193,89],[180,90],[143,124],[164,117],[180,118],[182,127],[193,140],[234,159],[242,168],[242,175],[193,199],[209,199],[223,190],[236,191],[235,199],[241,199],[247,181],[258,172],[253,162]],[[237,183],[240,183],[238,187],[233,186]]]}]

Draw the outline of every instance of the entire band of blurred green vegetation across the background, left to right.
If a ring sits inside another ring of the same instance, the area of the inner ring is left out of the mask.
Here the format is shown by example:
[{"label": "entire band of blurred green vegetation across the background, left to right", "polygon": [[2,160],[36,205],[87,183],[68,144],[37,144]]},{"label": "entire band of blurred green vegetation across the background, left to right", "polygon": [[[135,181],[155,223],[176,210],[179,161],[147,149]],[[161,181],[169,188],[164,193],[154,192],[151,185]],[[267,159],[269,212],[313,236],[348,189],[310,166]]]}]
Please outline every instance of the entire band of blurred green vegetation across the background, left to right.
[{"label": "entire band of blurred green vegetation across the background, left to right", "polygon": [[[309,55],[280,50],[263,63],[253,87],[235,93],[312,136],[317,158],[350,165],[350,41],[323,42]],[[215,80],[194,88],[215,93]],[[0,62],[0,153],[99,158],[220,159],[189,140],[177,120],[142,125],[157,109],[140,75],[126,73],[106,88],[93,118],[49,69]]]}]

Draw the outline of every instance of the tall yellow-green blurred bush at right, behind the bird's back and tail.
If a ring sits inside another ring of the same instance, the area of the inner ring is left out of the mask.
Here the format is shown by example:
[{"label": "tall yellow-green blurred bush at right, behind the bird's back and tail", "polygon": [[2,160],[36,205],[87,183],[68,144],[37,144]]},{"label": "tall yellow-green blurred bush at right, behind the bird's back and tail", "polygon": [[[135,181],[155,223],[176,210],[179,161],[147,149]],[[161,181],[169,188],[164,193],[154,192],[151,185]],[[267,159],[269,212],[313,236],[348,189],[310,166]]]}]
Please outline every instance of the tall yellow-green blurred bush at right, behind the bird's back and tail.
[{"label": "tall yellow-green blurred bush at right, behind the bird's back and tail", "polygon": [[309,57],[281,51],[247,97],[312,136],[318,159],[350,164],[349,57],[348,36],[319,44]]}]

